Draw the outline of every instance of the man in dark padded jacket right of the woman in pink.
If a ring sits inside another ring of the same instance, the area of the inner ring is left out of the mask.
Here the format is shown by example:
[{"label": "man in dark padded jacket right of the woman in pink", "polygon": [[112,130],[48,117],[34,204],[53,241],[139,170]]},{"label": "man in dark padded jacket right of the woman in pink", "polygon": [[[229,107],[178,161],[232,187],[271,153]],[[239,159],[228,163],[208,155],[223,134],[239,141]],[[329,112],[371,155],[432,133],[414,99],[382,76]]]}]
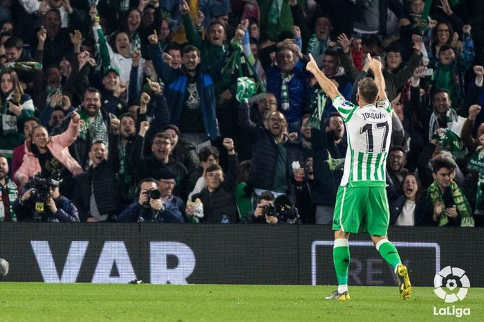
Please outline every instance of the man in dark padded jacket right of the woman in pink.
[{"label": "man in dark padded jacket right of the woman in pink", "polygon": [[[117,149],[117,146],[114,145],[114,147]],[[91,145],[89,149],[91,166],[86,172],[75,177],[72,197],[81,221],[116,220],[119,185],[113,166],[115,160],[112,159],[117,157],[111,154],[108,157],[107,147],[102,141],[96,141]]]}]

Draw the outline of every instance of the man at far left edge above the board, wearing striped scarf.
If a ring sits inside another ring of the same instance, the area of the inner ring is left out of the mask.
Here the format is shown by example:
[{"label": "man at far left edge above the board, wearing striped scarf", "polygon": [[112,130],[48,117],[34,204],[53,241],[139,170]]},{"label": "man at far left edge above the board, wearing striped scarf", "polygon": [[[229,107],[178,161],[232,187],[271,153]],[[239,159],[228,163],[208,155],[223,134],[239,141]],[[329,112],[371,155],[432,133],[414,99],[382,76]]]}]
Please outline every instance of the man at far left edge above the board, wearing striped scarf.
[{"label": "man at far left edge above the board, wearing striped scarf", "polygon": [[0,222],[17,221],[12,206],[18,193],[17,185],[8,178],[7,158],[0,154]]}]

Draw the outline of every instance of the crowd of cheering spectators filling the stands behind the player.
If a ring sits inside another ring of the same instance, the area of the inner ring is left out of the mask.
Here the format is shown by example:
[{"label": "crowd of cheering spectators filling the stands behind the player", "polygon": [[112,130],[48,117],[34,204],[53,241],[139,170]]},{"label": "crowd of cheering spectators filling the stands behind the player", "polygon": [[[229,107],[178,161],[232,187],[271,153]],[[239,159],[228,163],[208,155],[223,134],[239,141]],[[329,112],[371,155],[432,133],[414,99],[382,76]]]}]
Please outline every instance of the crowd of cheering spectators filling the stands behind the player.
[{"label": "crowd of cheering spectators filling the stands behind the player", "polygon": [[0,221],[331,224],[346,129],[306,63],[355,102],[369,54],[391,224],[484,224],[483,0],[1,0],[0,20]]}]

